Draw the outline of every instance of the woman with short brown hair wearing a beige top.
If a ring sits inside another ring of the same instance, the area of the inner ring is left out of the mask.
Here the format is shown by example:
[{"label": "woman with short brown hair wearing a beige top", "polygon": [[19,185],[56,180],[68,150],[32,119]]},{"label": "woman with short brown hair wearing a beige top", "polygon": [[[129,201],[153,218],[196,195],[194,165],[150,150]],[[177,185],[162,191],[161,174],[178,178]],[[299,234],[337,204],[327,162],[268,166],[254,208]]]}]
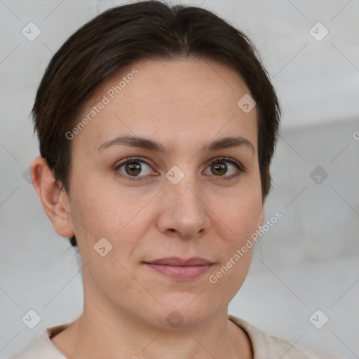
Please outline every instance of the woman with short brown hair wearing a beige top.
[{"label": "woman with short brown hair wearing a beige top", "polygon": [[32,114],[32,182],[79,250],[84,305],[13,358],[334,358],[227,313],[280,118],[243,33],[196,7],[112,8],[55,53]]}]

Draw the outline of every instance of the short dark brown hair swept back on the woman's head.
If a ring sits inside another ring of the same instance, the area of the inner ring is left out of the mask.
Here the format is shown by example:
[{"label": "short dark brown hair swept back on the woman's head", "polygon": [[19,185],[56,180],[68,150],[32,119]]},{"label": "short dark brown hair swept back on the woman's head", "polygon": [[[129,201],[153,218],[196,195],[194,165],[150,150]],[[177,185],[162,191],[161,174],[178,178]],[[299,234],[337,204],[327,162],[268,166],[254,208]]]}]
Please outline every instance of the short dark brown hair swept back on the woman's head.
[{"label": "short dark brown hair swept back on the woman's head", "polygon": [[[214,13],[196,6],[140,1],[117,6],[90,20],[53,55],[36,93],[32,116],[40,153],[69,193],[71,141],[86,100],[104,80],[136,60],[198,57],[238,72],[258,111],[258,158],[264,202],[276,147],[280,107],[250,39]],[[239,100],[239,99],[238,99]],[[76,246],[76,238],[70,238]]]}]

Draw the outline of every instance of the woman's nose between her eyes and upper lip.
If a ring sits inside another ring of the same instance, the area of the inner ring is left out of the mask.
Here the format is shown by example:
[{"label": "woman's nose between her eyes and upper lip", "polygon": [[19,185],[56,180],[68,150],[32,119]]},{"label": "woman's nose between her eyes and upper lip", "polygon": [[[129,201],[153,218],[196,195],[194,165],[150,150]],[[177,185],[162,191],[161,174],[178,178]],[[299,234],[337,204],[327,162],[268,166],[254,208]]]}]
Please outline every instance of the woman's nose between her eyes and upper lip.
[{"label": "woman's nose between her eyes and upper lip", "polygon": [[166,180],[161,191],[158,230],[182,238],[203,236],[210,228],[208,192],[189,174],[177,183]]}]

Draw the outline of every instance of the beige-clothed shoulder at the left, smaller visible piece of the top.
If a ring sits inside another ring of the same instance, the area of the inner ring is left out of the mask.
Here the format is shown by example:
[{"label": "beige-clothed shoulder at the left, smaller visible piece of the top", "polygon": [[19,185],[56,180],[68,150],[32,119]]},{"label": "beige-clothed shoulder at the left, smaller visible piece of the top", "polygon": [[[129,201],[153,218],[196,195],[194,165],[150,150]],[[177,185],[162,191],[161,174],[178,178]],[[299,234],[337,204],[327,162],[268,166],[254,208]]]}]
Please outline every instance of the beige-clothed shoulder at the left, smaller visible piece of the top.
[{"label": "beige-clothed shoulder at the left, smaller visible piece of the top", "polygon": [[43,359],[66,359],[60,351],[57,351],[50,337],[65,330],[69,324],[70,323],[62,323],[54,325],[53,327],[47,327],[39,333],[36,340],[33,341],[27,349],[8,359],[39,359],[40,356]]}]

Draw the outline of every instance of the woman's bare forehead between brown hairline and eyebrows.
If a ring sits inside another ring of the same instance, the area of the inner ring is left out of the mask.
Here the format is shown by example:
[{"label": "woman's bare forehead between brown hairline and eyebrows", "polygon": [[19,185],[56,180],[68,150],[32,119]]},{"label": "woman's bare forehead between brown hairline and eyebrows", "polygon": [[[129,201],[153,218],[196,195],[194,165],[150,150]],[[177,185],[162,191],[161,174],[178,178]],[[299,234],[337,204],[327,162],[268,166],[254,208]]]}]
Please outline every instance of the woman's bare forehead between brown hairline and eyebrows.
[{"label": "woman's bare forehead between brown hairline and eyebrows", "polygon": [[96,89],[81,114],[90,121],[76,141],[95,145],[131,134],[183,144],[245,133],[257,147],[257,109],[238,107],[249,94],[240,74],[218,62],[141,60]]}]

